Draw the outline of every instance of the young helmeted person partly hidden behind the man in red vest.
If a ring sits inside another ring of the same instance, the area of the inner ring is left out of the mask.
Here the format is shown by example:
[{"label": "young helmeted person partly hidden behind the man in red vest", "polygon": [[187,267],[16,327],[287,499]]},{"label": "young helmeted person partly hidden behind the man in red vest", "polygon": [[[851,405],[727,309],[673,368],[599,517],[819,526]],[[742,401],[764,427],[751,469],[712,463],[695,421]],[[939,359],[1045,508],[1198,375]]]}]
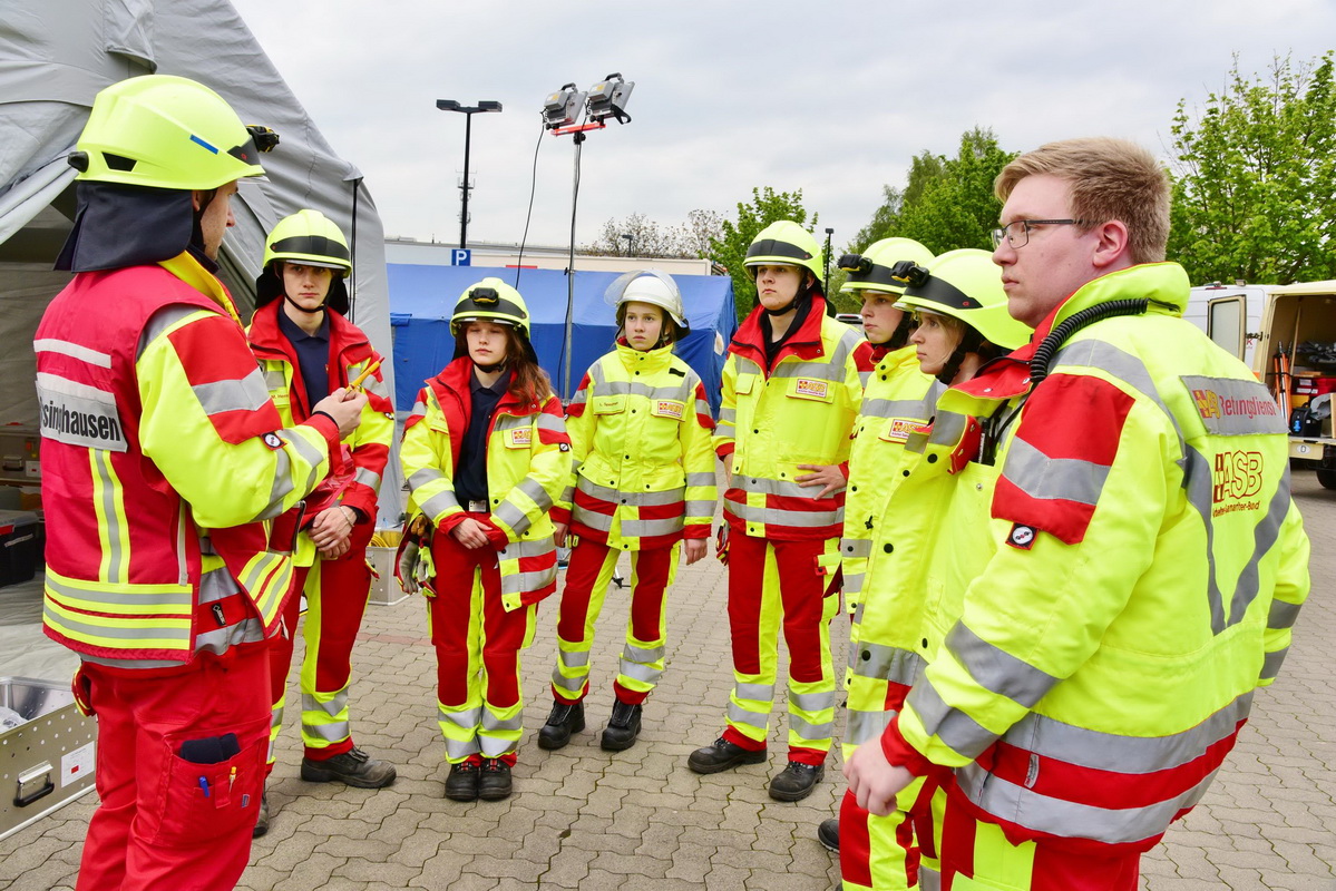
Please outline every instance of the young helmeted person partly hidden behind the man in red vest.
[{"label": "young helmeted person partly hidden behind the man in red vest", "polygon": [[[394,406],[381,374],[382,357],[347,319],[345,279],[353,273],[343,232],[317,210],[285,216],[265,239],[265,269],[255,282],[255,315],[247,337],[265,385],[285,422],[305,419],[331,390],[365,378],[366,409],[335,462],[335,478],[277,525],[278,541],[297,544],[295,585],[306,597],[302,625],[302,779],[377,789],[394,781],[394,765],[370,757],[353,743],[347,688],[353,641],[366,612],[371,572],[366,546],[375,530],[381,474],[390,458]],[[287,671],[293,661],[301,598],[283,610],[283,633],[270,661],[274,701],[269,768],[273,771]],[[269,796],[262,799],[255,835],[269,830]]]}]

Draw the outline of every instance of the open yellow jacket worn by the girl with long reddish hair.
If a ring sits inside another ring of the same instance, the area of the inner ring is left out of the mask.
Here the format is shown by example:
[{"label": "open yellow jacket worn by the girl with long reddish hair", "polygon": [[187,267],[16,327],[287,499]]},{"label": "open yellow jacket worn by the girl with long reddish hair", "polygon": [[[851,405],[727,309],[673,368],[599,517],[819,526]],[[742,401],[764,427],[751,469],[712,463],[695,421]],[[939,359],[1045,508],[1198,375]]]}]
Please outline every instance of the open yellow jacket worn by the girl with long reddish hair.
[{"label": "open yellow jacket worn by the girl with long reddish hair", "polygon": [[[409,513],[424,514],[446,534],[466,516],[454,497],[454,466],[469,429],[469,357],[426,382],[405,422],[399,456],[409,482]],[[501,602],[508,610],[556,590],[557,561],[548,512],[570,476],[570,437],[561,403],[521,403],[506,393],[488,431],[488,497],[493,525],[508,545],[497,552]]]}]

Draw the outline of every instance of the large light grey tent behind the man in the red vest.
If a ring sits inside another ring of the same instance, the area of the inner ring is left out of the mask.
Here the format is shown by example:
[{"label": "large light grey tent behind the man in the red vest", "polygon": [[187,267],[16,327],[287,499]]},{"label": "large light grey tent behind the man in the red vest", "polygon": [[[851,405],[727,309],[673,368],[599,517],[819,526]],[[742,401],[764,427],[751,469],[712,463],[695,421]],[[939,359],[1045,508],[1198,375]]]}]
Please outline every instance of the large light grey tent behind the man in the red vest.
[{"label": "large light grey tent behind the man in the red vest", "polygon": [[[4,0],[0,15],[0,425],[35,429],[29,347],[47,302],[68,281],[51,266],[73,216],[65,162],[102,88],[144,73],[191,77],[247,123],[278,131],[267,182],[244,182],[223,242],[223,279],[243,318],[254,305],[263,236],[313,207],[350,235],[353,321],[393,355],[381,219],[362,174],[335,155],[227,0]],[[394,390],[393,369],[382,371]],[[398,516],[397,457],[386,468],[382,522]]]}]

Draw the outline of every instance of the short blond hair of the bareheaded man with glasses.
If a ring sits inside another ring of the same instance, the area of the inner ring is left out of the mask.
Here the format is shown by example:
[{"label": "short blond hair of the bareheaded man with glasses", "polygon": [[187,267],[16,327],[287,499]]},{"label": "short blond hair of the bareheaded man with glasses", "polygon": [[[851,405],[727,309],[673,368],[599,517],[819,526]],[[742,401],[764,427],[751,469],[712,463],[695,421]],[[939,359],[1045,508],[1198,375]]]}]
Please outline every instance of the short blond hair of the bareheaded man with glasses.
[{"label": "short blond hair of the bareheaded man with glasses", "polygon": [[1133,263],[1165,258],[1169,240],[1169,176],[1154,155],[1125,139],[1090,136],[1047,143],[1002,168],[993,191],[1006,203],[1026,176],[1067,183],[1071,215],[1092,228],[1112,219],[1128,227]]}]

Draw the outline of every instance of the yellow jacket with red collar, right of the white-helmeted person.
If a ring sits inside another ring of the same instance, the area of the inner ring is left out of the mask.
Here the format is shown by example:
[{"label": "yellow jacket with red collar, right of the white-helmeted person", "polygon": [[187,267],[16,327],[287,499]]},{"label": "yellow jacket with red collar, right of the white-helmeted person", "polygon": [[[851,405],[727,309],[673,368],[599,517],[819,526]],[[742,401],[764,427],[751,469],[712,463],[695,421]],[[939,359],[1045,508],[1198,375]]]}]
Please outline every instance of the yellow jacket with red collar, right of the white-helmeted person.
[{"label": "yellow jacket with red collar, right of the white-helmeted person", "polygon": [[872,369],[872,347],[828,318],[826,301],[814,297],[799,329],[768,363],[762,313],[758,307],[743,321],[724,363],[715,427],[719,457],[733,456],[724,517],[733,532],[755,538],[838,538],[844,490],[816,498],[820,486],[794,478],[808,473],[800,464],[848,461],[848,434],[863,398],[859,375]]}]

